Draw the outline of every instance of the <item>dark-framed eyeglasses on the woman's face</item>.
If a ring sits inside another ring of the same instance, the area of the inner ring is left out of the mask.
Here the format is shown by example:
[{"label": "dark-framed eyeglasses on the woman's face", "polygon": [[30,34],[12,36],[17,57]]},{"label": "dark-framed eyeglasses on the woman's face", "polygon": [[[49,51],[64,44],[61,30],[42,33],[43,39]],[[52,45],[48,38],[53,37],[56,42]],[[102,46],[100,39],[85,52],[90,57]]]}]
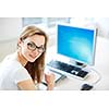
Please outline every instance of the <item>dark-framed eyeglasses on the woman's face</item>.
[{"label": "dark-framed eyeglasses on the woman's face", "polygon": [[36,46],[35,45],[35,43],[33,43],[33,41],[31,41],[31,43],[27,43],[27,48],[29,49],[29,50],[32,50],[32,51],[34,51],[34,50],[38,50],[38,52],[45,52],[45,48],[44,48],[44,46],[41,45],[40,47],[38,47],[38,46]]}]

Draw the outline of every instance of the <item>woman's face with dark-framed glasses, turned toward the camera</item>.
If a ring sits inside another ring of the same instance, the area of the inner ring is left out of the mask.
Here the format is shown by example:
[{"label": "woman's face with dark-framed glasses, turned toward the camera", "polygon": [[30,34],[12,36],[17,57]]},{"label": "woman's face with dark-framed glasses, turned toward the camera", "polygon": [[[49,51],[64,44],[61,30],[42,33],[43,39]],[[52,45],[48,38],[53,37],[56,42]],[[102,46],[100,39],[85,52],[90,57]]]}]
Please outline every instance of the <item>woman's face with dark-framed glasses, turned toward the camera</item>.
[{"label": "woman's face with dark-framed glasses, turned toward the camera", "polygon": [[41,35],[34,35],[21,41],[21,55],[26,61],[34,62],[45,51],[45,37]]}]

